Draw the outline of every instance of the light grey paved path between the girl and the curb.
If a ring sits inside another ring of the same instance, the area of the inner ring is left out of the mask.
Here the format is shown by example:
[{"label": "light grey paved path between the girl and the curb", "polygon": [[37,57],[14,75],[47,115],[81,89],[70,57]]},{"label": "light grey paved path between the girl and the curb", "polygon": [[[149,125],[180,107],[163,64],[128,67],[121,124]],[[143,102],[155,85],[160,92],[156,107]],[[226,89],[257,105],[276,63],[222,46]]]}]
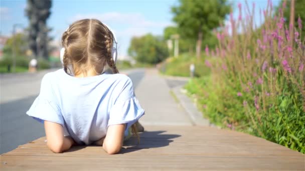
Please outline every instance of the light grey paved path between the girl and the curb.
[{"label": "light grey paved path between the girl and the curb", "polygon": [[135,89],[145,115],[144,125],[192,125],[190,117],[175,101],[166,80],[156,69],[146,69],[145,76]]}]

